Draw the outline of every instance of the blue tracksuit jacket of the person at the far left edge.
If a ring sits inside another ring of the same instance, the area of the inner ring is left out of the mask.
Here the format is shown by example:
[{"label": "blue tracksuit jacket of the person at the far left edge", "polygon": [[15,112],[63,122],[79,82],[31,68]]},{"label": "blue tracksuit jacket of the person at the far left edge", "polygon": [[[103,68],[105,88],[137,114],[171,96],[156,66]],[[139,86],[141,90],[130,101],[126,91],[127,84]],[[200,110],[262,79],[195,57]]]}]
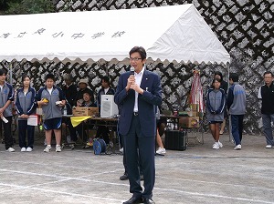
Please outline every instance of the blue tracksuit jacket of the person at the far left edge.
[{"label": "blue tracksuit jacket of the person at the far left edge", "polygon": [[[3,90],[0,92],[0,107],[4,107],[5,103],[10,100],[10,101],[14,101],[15,98],[15,92],[14,92],[14,88],[5,82]],[[4,117],[12,117],[13,116],[13,112],[12,112],[12,103],[5,108],[5,111],[3,113]]]}]

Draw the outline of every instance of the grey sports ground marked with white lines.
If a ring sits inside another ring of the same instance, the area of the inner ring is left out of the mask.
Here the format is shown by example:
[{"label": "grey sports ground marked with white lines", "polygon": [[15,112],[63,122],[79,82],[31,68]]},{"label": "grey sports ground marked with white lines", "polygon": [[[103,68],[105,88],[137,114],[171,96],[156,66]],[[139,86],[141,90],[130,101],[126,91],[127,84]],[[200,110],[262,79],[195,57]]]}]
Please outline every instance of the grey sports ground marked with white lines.
[{"label": "grey sports ground marked with white lines", "polygon": [[[228,136],[224,148],[213,150],[213,139],[185,151],[168,150],[156,157],[156,203],[274,203],[274,148],[262,136],[243,138],[233,150]],[[5,152],[0,145],[0,203],[122,203],[131,197],[121,181],[119,154],[95,156],[91,149],[64,148],[43,152]]]}]

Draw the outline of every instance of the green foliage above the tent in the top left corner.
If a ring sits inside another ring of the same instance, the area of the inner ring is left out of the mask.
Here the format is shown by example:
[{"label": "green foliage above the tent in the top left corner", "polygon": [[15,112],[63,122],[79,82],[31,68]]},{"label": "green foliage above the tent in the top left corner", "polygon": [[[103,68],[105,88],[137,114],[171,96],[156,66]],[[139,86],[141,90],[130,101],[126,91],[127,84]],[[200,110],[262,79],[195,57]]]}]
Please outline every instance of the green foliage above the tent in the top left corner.
[{"label": "green foliage above the tent in the top left corner", "polygon": [[55,12],[52,0],[0,0],[6,15],[26,15]]}]

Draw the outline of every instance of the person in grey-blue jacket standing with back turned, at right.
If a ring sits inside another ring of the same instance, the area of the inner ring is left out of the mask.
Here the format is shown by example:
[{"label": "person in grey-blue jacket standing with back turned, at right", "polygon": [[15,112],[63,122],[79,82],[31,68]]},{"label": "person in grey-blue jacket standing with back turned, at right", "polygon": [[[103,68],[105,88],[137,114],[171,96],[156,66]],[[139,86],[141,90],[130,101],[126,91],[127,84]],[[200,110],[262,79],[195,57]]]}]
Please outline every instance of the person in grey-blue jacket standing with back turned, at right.
[{"label": "person in grey-blue jacket standing with back turned, at right", "polygon": [[242,148],[241,141],[243,135],[243,120],[246,113],[246,91],[244,87],[238,84],[238,75],[231,73],[229,75],[227,108],[231,116],[232,136],[235,141],[235,150]]}]

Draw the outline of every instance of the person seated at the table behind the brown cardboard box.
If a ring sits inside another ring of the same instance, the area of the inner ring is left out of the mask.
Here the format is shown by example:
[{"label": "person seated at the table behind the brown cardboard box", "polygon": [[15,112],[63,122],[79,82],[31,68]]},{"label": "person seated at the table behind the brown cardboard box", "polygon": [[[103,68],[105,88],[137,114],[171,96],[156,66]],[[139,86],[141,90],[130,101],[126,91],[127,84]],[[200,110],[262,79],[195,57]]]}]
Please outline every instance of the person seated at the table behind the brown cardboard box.
[{"label": "person seated at the table behind the brown cardboard box", "polygon": [[[94,107],[94,103],[91,101],[90,91],[83,93],[83,101],[78,100],[77,106],[78,107]],[[83,138],[83,141],[88,140],[88,136],[86,131],[83,130],[83,125],[86,123],[86,121],[82,122],[79,126],[77,126],[77,131],[79,133],[79,136]],[[93,126],[89,126],[88,128],[92,128]]]}]

